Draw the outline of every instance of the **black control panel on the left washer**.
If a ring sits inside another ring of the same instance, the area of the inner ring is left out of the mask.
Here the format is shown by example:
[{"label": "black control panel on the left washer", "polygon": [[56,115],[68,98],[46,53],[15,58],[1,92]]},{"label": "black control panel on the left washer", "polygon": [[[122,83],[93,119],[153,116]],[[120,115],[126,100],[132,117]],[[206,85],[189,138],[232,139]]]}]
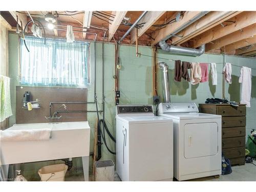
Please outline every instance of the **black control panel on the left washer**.
[{"label": "black control panel on the left washer", "polygon": [[117,114],[154,114],[153,105],[117,105]]}]

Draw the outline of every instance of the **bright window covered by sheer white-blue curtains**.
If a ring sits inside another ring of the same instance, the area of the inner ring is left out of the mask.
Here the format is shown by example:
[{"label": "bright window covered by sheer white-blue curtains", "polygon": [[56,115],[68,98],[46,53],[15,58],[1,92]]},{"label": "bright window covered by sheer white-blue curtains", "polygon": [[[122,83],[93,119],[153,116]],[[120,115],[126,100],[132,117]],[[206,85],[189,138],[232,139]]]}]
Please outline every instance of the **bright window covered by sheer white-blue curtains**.
[{"label": "bright window covered by sheer white-blue curtains", "polygon": [[83,86],[89,82],[89,42],[26,36],[20,43],[21,83],[37,86]]}]

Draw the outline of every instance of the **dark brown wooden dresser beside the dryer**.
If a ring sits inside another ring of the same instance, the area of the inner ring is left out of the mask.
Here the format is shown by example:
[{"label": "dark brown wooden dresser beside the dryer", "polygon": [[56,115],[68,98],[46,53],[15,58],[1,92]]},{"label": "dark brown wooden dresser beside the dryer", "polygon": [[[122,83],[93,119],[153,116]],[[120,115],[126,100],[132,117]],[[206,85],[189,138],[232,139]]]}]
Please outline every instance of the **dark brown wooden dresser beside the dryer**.
[{"label": "dark brown wooden dresser beside the dryer", "polygon": [[222,116],[222,153],[231,165],[245,164],[246,106],[230,104],[199,104],[200,113]]}]

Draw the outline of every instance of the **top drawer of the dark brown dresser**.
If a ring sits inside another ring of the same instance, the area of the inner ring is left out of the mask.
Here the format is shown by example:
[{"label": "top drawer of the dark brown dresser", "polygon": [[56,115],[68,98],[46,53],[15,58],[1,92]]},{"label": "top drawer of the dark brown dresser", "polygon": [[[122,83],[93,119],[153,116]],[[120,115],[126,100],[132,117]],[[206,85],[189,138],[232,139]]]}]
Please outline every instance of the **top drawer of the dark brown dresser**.
[{"label": "top drawer of the dark brown dresser", "polygon": [[216,114],[222,117],[246,116],[246,106],[217,106]]}]

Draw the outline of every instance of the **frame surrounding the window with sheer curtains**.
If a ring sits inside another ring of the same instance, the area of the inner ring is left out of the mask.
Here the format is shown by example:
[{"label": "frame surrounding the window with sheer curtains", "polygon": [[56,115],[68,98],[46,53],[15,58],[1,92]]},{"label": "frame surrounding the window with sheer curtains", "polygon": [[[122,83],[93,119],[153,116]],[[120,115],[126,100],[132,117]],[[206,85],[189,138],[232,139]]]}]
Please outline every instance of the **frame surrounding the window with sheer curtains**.
[{"label": "frame surrounding the window with sheer curtains", "polygon": [[[26,35],[25,36],[25,40],[26,37],[35,37],[33,35]],[[39,37],[35,37],[38,38]],[[47,44],[47,40],[56,40],[56,41],[66,41],[66,38],[61,38],[61,37],[47,37],[46,38],[46,44]],[[75,41],[77,43],[82,43],[85,44],[86,46],[88,46],[88,51],[87,51],[87,80],[86,82],[84,82],[83,84],[41,84],[41,83],[24,83],[22,81],[22,41],[23,38],[21,38],[19,36],[19,40],[18,40],[18,78],[19,78],[19,84],[20,86],[31,86],[31,87],[61,87],[61,88],[88,88],[91,84],[91,42],[90,41],[82,41],[82,40],[78,40]],[[44,40],[43,38],[41,38],[41,43],[44,44]],[[68,43],[67,44],[72,44],[72,43]],[[26,49],[26,48],[25,48]],[[27,51],[27,50],[26,50]]]}]

